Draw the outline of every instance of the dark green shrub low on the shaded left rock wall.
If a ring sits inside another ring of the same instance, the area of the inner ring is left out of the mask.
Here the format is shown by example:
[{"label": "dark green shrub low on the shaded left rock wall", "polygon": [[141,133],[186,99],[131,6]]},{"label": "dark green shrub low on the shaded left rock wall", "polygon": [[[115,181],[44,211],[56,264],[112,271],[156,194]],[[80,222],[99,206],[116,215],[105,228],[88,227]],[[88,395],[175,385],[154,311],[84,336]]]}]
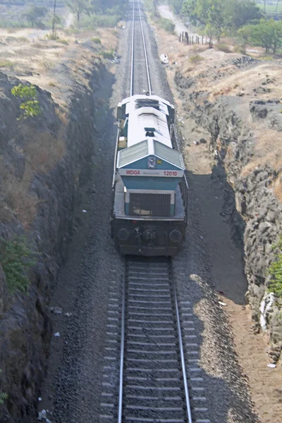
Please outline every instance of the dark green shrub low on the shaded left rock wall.
[{"label": "dark green shrub low on the shaded left rock wall", "polygon": [[27,272],[36,264],[35,256],[25,237],[15,237],[13,240],[0,238],[0,262],[11,294],[16,290],[27,292],[30,283]]}]

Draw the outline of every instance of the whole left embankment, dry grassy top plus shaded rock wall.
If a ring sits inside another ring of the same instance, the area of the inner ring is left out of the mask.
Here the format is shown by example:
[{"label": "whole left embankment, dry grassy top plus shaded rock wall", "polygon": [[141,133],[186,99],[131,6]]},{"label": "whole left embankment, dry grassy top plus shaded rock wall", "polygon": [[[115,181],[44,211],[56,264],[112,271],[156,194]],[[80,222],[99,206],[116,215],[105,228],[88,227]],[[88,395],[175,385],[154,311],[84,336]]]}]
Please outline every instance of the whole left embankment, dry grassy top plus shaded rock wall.
[{"label": "whole left embankment, dry grassy top plus shaded rock wall", "polygon": [[[47,305],[92,168],[93,116],[102,106],[94,92],[108,72],[97,52],[116,43],[111,32],[102,47],[91,36],[64,44],[8,39],[1,51],[0,235],[25,234],[39,252],[28,295],[8,293],[0,265],[0,392],[8,394],[1,422],[30,422],[37,415],[51,337]],[[19,120],[22,99],[11,89],[28,85],[25,80],[36,86],[41,113]]]}]

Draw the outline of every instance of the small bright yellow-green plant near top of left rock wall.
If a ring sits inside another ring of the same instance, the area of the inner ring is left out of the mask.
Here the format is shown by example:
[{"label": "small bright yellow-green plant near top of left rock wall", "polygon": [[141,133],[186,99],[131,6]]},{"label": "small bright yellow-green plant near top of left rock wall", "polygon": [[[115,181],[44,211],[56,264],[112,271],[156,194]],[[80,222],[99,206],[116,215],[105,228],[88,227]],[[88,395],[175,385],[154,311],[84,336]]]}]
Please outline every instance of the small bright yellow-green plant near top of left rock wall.
[{"label": "small bright yellow-green plant near top of left rock wall", "polygon": [[25,100],[20,104],[20,109],[23,110],[23,114],[18,120],[34,118],[41,114],[41,109],[37,100],[37,91],[34,85],[15,85],[15,87],[11,89],[11,93],[15,97]]}]

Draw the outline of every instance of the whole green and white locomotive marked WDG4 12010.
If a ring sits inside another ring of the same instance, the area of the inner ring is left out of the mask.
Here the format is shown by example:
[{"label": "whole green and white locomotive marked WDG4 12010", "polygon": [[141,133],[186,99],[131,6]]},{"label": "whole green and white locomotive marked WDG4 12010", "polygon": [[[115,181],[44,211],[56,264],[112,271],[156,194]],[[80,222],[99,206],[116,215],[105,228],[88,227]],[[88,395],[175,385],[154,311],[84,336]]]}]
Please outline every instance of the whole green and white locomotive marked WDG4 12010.
[{"label": "whole green and white locomotive marked WDG4 12010", "polygon": [[111,233],[124,255],[176,255],[187,225],[183,157],[174,107],[133,95],[118,104]]}]

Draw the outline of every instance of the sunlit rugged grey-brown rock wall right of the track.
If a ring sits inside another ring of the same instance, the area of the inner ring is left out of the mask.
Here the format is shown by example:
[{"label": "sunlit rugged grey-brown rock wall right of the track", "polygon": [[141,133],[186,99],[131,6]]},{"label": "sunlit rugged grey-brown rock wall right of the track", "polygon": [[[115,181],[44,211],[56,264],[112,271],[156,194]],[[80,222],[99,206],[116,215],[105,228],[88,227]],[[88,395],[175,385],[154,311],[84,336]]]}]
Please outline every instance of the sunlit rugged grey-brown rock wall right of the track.
[{"label": "sunlit rugged grey-brown rock wall right of the track", "polygon": [[247,167],[253,163],[257,142],[250,123],[264,120],[266,128],[278,133],[282,130],[281,104],[276,100],[243,103],[235,96],[221,96],[210,102],[207,92],[185,91],[190,79],[187,84],[183,79],[183,75],[176,73],[176,84],[190,116],[210,133],[209,144],[218,158],[214,173],[226,180],[224,212],[230,217],[233,234],[244,247],[247,300],[252,317],[263,322],[262,329],[269,333],[273,343],[281,344],[278,307],[265,294],[267,268],[274,259],[271,246],[282,233],[282,204],[274,192],[279,174],[270,164],[259,160]]}]

